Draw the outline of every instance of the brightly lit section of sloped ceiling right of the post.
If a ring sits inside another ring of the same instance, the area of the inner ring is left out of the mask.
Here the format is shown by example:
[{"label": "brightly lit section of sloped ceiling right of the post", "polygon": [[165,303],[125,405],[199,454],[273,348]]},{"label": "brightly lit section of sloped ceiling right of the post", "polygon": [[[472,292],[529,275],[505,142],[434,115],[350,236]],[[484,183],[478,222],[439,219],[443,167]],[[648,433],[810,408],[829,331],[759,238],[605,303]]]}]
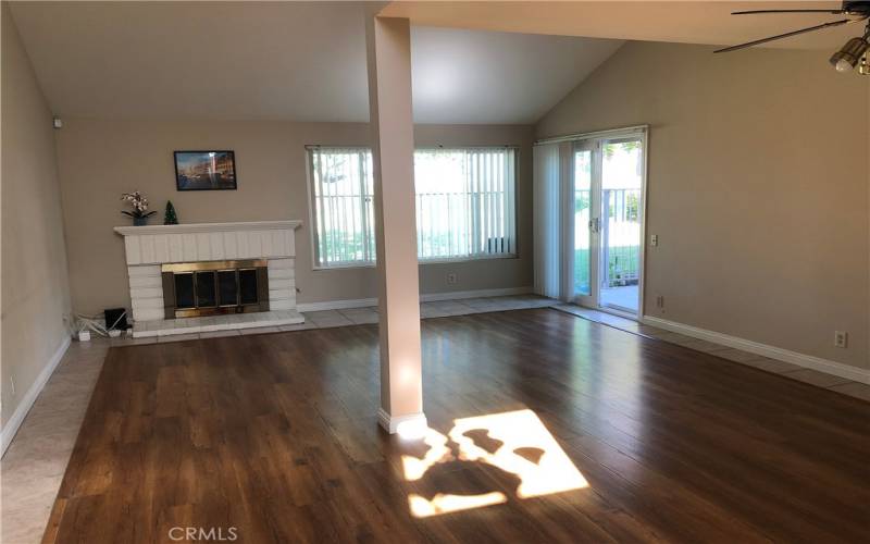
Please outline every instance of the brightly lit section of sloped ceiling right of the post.
[{"label": "brightly lit section of sloped ceiling right of the post", "polygon": [[414,120],[533,123],[622,44],[412,27]]}]

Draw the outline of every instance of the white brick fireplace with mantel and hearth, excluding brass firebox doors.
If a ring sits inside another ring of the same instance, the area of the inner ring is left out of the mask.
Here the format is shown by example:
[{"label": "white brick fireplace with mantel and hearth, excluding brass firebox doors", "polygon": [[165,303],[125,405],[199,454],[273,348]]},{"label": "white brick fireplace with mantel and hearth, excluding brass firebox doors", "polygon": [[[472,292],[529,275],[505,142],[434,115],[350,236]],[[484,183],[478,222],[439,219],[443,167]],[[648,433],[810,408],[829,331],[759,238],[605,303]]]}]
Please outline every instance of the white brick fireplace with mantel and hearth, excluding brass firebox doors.
[{"label": "white brick fireplace with mantel and hearth, excluding brass firebox doors", "polygon": [[[133,306],[134,336],[182,334],[301,323],[296,311],[294,231],[300,221],[116,226],[124,249]],[[266,261],[269,311],[165,319],[163,264],[257,259]]]}]

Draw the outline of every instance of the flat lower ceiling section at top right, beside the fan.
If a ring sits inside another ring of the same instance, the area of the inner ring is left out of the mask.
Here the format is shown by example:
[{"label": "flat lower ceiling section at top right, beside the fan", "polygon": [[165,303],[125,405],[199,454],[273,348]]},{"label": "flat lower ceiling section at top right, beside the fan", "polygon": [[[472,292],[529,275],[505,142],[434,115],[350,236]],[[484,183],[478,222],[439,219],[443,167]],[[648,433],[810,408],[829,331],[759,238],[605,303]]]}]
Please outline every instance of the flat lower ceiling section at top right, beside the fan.
[{"label": "flat lower ceiling section at top right, beside the fan", "polygon": [[[843,18],[830,14],[731,15],[761,9],[840,9],[838,1],[575,1],[390,2],[382,15],[412,24],[513,33],[586,36],[678,44],[735,45]],[[860,35],[846,25],[774,41],[765,47],[837,49]]]}]

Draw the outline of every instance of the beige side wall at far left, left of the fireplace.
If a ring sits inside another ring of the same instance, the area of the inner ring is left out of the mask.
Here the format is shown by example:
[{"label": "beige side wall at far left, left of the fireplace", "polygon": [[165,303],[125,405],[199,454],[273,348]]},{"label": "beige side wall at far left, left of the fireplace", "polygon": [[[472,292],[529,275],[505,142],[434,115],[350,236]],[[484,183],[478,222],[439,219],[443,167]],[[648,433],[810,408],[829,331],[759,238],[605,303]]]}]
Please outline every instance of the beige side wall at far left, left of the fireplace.
[{"label": "beige side wall at far left, left of the fireplace", "polygon": [[[69,337],[51,112],[2,3],[2,424]],[[15,394],[12,393],[12,381]]]}]

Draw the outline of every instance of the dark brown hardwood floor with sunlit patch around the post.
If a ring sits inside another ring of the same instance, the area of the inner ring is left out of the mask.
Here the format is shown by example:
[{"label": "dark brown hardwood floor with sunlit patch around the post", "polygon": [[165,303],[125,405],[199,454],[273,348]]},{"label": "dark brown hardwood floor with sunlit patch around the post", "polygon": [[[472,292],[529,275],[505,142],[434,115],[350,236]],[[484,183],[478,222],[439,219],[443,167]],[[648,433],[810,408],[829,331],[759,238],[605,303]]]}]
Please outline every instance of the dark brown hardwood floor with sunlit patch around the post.
[{"label": "dark brown hardwood floor with sunlit patch around the post", "polygon": [[[588,486],[519,498],[456,444],[409,481],[428,446],[377,428],[375,325],[112,348],[45,542],[867,542],[868,403],[547,309],[423,336],[434,431],[529,409]],[[411,514],[439,493],[505,500]]]}]

